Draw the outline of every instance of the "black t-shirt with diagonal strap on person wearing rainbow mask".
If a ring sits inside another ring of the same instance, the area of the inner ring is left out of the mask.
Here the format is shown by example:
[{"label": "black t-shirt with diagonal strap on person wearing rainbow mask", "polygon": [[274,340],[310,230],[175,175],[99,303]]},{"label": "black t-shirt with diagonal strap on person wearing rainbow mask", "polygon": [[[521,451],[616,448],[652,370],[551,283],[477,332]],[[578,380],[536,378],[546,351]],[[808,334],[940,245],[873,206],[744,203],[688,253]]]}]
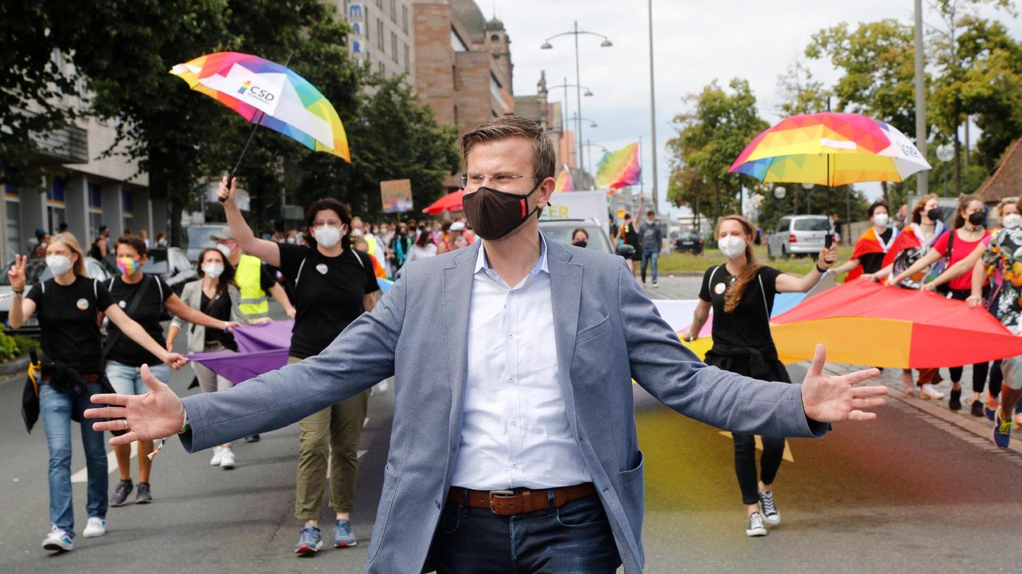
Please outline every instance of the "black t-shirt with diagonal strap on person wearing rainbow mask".
[{"label": "black t-shirt with diagonal strap on person wearing rainbow mask", "polygon": [[[131,317],[136,323],[141,325],[154,341],[160,345],[167,344],[164,338],[164,327],[159,324],[159,320],[164,313],[164,302],[174,294],[170,286],[155,275],[147,275],[142,278],[142,281],[134,285],[125,283],[120,275],[111,281],[112,285],[110,281],[107,281],[105,285],[109,287],[113,302],[125,313],[128,313],[128,309],[131,307],[131,301],[135,298],[135,293],[139,289],[143,289],[142,299],[138,302],[135,310],[128,317]],[[121,330],[112,323],[106,328],[106,334],[109,337],[113,337],[120,332]],[[106,358],[131,365],[132,367],[141,367],[146,364],[158,365],[161,363],[154,354],[145,350],[142,345],[131,340],[128,335],[124,334],[118,337],[117,342],[113,343],[113,348],[106,354]]]}]

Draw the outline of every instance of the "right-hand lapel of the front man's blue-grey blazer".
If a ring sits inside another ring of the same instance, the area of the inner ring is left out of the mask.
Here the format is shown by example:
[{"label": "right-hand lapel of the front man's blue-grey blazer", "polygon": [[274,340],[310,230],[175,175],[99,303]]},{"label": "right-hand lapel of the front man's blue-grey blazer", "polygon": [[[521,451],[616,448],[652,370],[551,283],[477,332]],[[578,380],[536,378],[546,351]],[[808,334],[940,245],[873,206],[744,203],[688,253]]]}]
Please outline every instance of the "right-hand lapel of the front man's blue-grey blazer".
[{"label": "right-hand lapel of the front man's blue-grey blazer", "polygon": [[[578,332],[578,307],[582,304],[582,266],[571,262],[571,253],[556,241],[547,241],[547,266],[550,269],[550,296],[554,307],[554,340],[557,344],[557,371],[571,430],[575,430],[574,394],[571,389],[571,360]],[[577,432],[575,433],[577,435]]]}]

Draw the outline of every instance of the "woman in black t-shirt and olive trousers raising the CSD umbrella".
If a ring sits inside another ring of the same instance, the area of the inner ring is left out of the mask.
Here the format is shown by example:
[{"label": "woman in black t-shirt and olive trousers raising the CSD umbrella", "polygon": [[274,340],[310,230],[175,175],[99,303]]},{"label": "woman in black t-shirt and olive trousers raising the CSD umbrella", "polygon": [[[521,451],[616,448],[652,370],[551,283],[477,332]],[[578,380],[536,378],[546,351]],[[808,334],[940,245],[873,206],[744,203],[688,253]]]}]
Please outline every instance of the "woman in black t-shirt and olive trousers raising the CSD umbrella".
[{"label": "woman in black t-shirt and olive trousers raising the CSD umbrella", "polygon": [[[258,239],[234,202],[234,182],[220,185],[227,223],[241,248],[279,268],[294,288],[294,329],[288,363],[319,354],[360,315],[373,309],[379,290],[367,253],[351,248],[352,213],[336,199],[320,199],[306,213],[309,245]],[[322,545],[319,529],[323,489],[330,462],[330,508],[336,512],[333,543],[357,543],[350,513],[359,469],[358,444],[369,405],[369,391],[342,400],[300,422],[301,442],[294,516],[305,521],[295,554],[314,554]]]}]

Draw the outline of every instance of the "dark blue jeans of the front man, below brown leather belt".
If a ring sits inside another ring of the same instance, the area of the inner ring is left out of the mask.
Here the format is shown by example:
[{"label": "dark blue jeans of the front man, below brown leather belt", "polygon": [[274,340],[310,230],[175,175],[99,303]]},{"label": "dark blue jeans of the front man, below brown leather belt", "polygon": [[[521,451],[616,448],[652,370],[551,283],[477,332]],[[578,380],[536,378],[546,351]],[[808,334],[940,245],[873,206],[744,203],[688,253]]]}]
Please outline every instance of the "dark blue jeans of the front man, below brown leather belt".
[{"label": "dark blue jeans of the front man, below brown leather belt", "polygon": [[430,558],[438,574],[611,574],[621,564],[598,496],[515,516],[449,501]]}]

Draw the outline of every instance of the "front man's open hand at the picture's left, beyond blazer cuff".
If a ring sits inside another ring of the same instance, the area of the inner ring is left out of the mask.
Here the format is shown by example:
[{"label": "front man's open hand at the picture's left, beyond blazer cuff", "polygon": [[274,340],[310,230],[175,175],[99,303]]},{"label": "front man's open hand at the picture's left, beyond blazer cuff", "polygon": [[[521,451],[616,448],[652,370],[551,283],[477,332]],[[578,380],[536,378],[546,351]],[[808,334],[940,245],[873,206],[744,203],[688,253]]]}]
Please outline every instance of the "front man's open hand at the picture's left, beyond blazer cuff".
[{"label": "front man's open hand at the picture's left, beyond blazer cuff", "polygon": [[[86,419],[124,419],[128,421],[128,432],[109,440],[111,445],[131,444],[135,440],[155,440],[177,434],[184,425],[185,406],[174,394],[171,387],[159,382],[142,366],[142,380],[149,387],[145,394],[94,394],[91,400],[97,404],[110,404],[98,409],[87,409]],[[126,430],[124,420],[93,423],[96,431]]]}]

